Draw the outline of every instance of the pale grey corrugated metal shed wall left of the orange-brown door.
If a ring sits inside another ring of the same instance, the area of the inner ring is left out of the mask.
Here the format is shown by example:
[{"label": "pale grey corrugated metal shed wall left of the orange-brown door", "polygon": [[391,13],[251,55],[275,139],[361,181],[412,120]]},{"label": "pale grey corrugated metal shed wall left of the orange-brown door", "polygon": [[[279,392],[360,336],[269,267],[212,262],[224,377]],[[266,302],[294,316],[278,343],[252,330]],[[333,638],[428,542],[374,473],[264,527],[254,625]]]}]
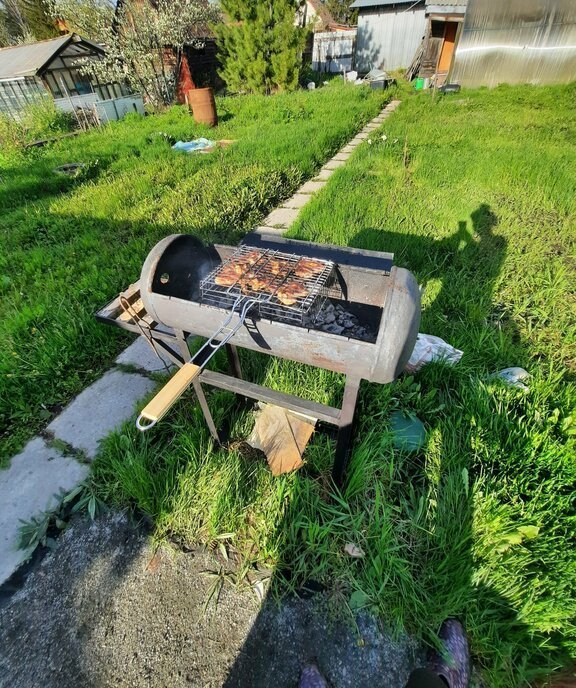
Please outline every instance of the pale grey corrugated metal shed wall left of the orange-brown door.
[{"label": "pale grey corrugated metal shed wall left of the orange-brown door", "polygon": [[423,2],[408,10],[406,7],[400,4],[360,10],[354,65],[359,72],[410,66],[426,32],[426,12]]}]

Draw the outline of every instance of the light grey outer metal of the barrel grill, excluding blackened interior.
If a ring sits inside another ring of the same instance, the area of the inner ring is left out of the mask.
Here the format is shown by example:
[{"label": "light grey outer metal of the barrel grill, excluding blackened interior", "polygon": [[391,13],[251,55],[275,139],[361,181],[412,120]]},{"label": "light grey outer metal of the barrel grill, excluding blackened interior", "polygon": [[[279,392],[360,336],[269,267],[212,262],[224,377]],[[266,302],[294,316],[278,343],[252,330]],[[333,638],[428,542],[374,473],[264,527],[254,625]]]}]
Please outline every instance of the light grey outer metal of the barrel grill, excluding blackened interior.
[{"label": "light grey outer metal of the barrel grill, excluding blackened interior", "polygon": [[[152,288],[161,257],[175,241],[181,239],[167,237],[150,252],[142,269],[141,297],[148,313],[158,322],[210,337],[220,327],[228,314],[227,310],[170,294],[159,294]],[[390,254],[364,254],[359,249],[323,247],[321,244],[294,240],[276,241],[278,248],[283,243],[284,250],[293,250],[299,255],[316,258],[324,250],[331,257],[337,252],[343,260],[348,261],[348,265],[337,264],[345,298],[382,309],[376,342],[254,318],[246,321],[234,334],[230,344],[327,370],[354,374],[372,382],[384,384],[394,380],[408,360],[418,334],[420,293],[412,274],[391,267]],[[215,248],[222,259],[234,250],[223,246]],[[363,262],[385,266],[388,271],[366,269],[361,267]],[[190,288],[194,291],[192,284]],[[237,318],[235,315],[231,326]]]}]

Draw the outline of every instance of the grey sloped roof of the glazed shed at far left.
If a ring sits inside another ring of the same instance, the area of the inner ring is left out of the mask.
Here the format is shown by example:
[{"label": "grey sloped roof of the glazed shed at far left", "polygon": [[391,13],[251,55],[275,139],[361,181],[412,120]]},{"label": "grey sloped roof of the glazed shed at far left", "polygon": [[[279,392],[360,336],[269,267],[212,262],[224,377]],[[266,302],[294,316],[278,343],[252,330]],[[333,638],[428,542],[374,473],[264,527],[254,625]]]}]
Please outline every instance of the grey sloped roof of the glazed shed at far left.
[{"label": "grey sloped roof of the glazed shed at far left", "polygon": [[34,76],[42,71],[59,52],[69,43],[84,43],[98,51],[102,47],[77,34],[68,34],[58,38],[49,38],[46,41],[29,43],[27,45],[14,45],[0,49],[0,80],[17,79],[24,76]]}]

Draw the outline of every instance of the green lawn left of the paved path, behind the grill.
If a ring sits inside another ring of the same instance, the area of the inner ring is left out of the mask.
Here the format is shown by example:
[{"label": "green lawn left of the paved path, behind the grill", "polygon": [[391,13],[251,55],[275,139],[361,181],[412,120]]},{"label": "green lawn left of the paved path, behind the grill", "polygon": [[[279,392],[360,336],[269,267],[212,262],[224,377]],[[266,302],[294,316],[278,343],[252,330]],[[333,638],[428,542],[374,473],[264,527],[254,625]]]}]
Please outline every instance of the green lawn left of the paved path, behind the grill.
[{"label": "green lawn left of the paved path, behind the grill", "polygon": [[[138,278],[156,241],[191,232],[236,243],[388,97],[332,83],[222,98],[214,130],[175,107],[25,154],[0,150],[0,465],[129,341],[93,313]],[[237,143],[187,156],[162,133]],[[67,162],[85,163],[82,175],[52,172]]]}]

